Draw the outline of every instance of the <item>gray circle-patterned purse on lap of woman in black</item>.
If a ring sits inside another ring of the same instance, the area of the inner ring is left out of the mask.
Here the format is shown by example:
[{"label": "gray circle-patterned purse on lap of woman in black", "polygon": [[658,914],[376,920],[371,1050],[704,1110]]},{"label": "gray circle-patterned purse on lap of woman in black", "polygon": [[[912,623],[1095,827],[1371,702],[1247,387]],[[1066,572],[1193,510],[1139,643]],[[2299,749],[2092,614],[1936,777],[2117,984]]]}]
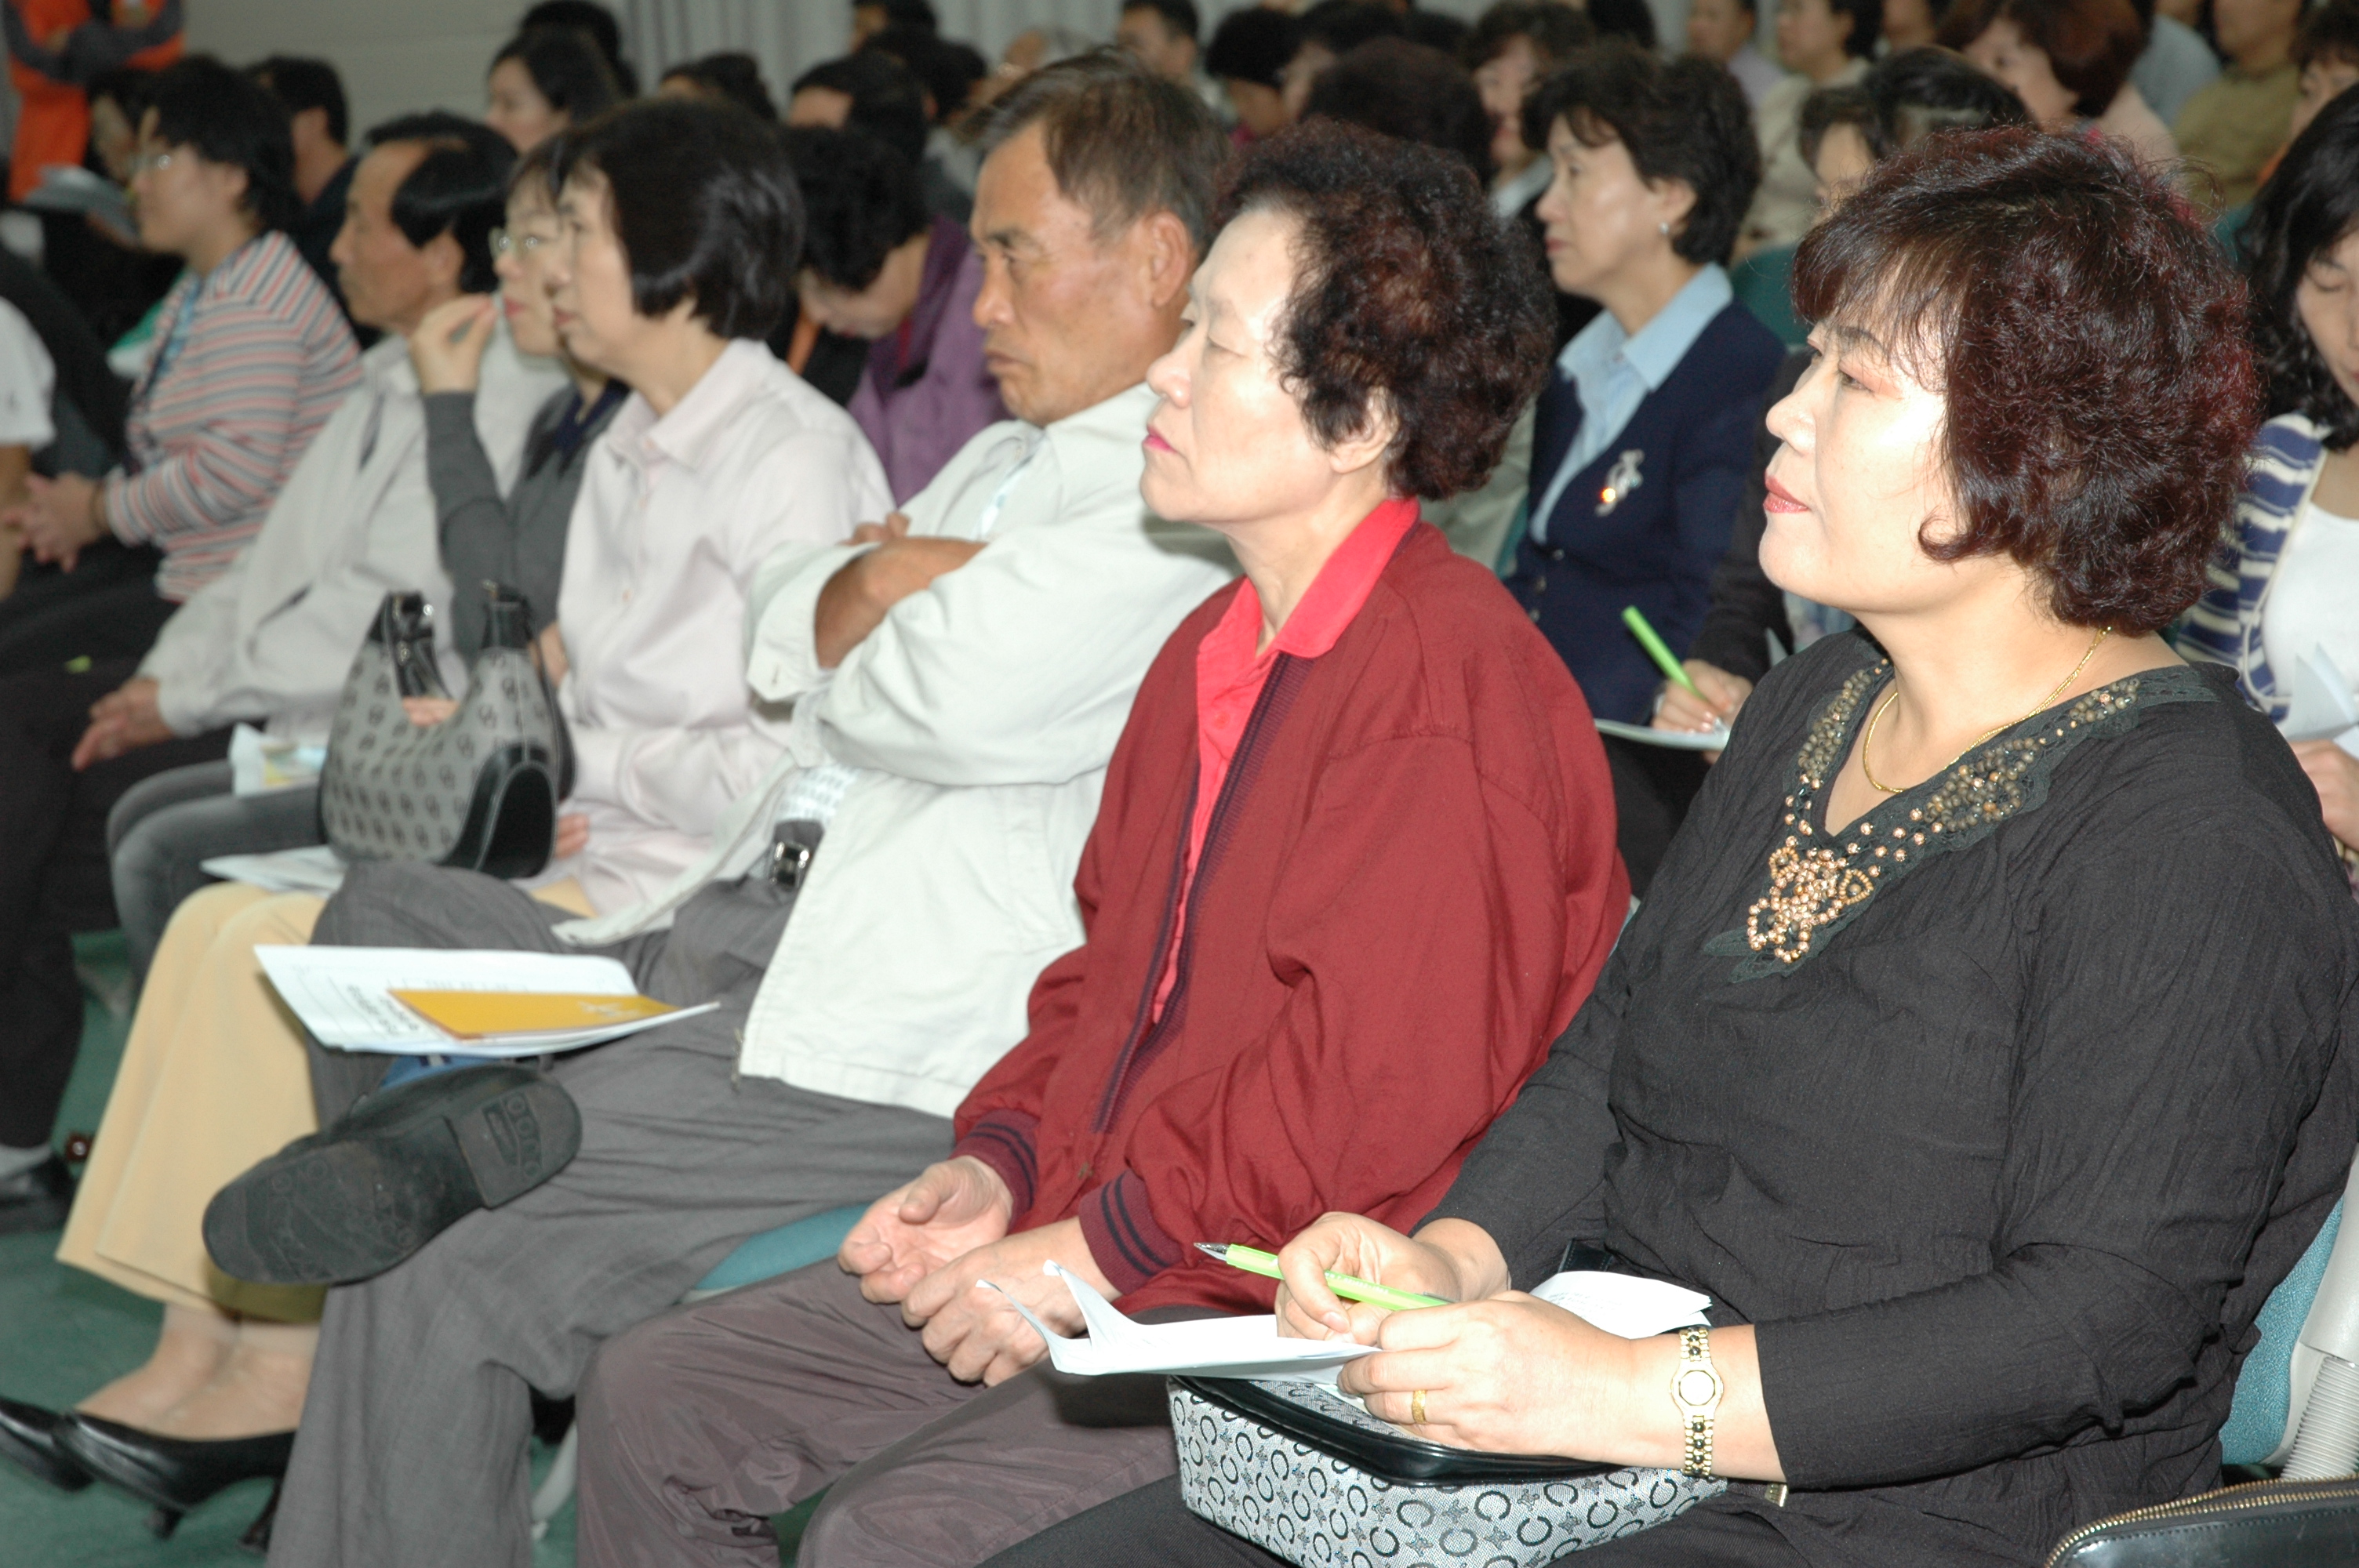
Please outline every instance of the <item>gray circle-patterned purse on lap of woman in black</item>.
[{"label": "gray circle-patterned purse on lap of woman in black", "polygon": [[1538,1568],[1727,1485],[1422,1443],[1312,1382],[1172,1377],[1170,1408],[1189,1511],[1300,1568]]}]

